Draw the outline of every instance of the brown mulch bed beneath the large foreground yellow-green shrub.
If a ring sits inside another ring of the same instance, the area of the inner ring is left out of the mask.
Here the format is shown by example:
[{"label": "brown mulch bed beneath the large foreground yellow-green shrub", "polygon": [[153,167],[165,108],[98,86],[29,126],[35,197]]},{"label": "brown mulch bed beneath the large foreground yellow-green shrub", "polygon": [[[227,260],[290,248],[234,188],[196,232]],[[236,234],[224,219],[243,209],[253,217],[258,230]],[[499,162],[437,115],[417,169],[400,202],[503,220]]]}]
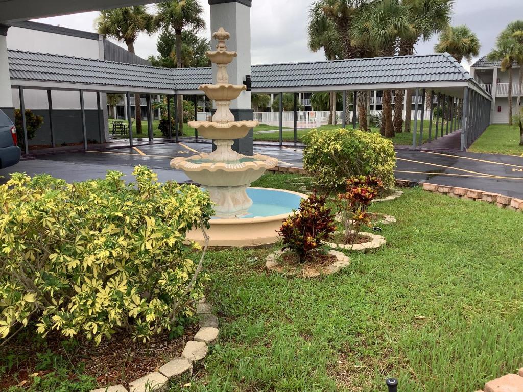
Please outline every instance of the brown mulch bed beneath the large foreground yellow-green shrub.
[{"label": "brown mulch bed beneath the large foreground yellow-green shrub", "polygon": [[[186,328],[184,335],[170,340],[168,334],[156,336],[146,343],[135,342],[128,335],[115,333],[110,340],[103,340],[98,346],[78,337],[76,344],[64,340],[58,333],[50,333],[46,342],[36,339],[13,340],[5,347],[0,347],[0,365],[6,355],[16,353],[17,358],[23,358],[10,371],[0,376],[0,390],[10,386],[20,385],[27,380],[28,386],[34,373],[43,376],[52,370],[35,371],[39,364],[37,353],[52,353],[68,358],[74,368],[82,368],[82,374],[96,378],[99,385],[111,386],[129,383],[158,370],[161,366],[180,356],[185,343],[190,341],[198,332],[198,325]],[[68,348],[67,350],[65,348]],[[52,367],[52,364],[49,366]],[[71,379],[77,376],[71,372]]]}]

